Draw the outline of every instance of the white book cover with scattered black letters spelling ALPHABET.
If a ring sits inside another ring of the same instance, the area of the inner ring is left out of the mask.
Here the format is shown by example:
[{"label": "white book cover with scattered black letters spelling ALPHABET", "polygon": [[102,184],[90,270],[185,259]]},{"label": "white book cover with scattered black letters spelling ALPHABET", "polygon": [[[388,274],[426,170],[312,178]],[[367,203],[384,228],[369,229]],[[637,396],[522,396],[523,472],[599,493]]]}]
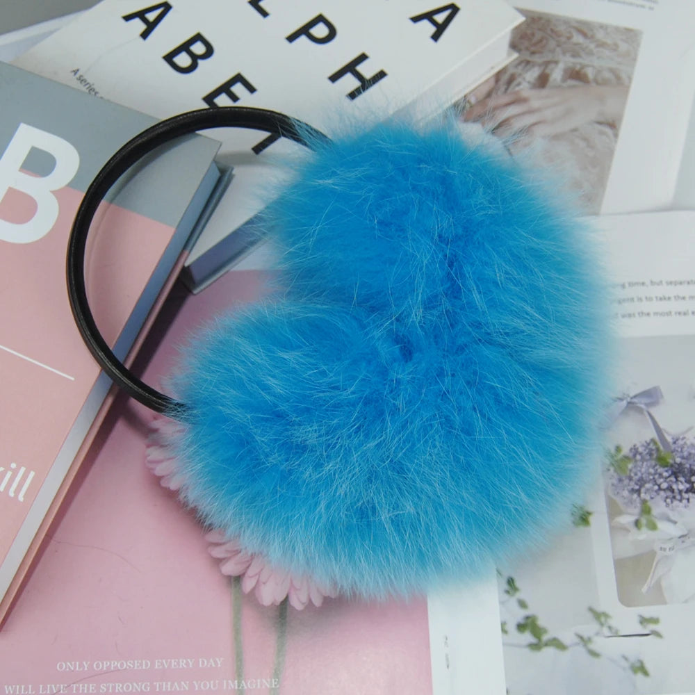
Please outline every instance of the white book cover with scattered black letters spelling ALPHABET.
[{"label": "white book cover with scattered black letters spelling ALPHABET", "polygon": [[[15,64],[156,117],[238,103],[276,108],[332,134],[411,104],[521,21],[502,0],[459,1],[455,13],[444,8],[418,21],[412,18],[431,9],[419,0],[370,2],[362,12],[354,3],[317,0],[207,0],[204,11],[179,1],[145,12],[145,4],[104,0]],[[186,42],[197,58],[179,50]],[[505,54],[506,41],[498,58]],[[354,69],[372,80],[357,94],[360,82],[345,70],[354,60]],[[417,113],[445,106],[427,99]],[[234,163],[234,185],[188,262],[263,207],[274,177],[268,162],[297,151],[279,141],[257,156],[251,150],[265,139],[259,133],[236,129],[212,136]],[[213,233],[218,228],[224,235]]]}]

